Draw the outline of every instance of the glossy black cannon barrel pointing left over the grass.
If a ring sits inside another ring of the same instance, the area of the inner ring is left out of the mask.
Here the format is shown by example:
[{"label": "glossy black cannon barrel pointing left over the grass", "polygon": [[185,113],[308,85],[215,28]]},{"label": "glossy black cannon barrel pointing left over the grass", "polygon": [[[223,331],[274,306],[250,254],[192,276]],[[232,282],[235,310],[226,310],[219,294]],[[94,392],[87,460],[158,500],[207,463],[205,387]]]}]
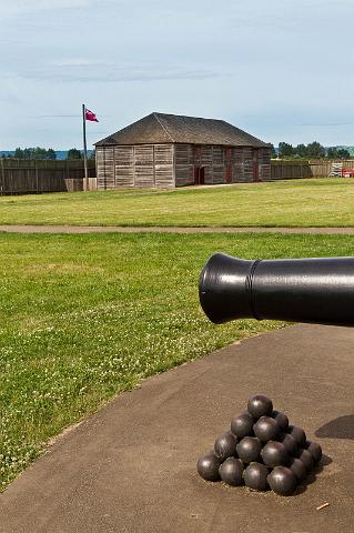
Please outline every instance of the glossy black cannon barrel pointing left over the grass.
[{"label": "glossy black cannon barrel pointing left over the grass", "polygon": [[236,319],[354,324],[354,258],[247,261],[215,253],[200,302],[214,323]]}]

